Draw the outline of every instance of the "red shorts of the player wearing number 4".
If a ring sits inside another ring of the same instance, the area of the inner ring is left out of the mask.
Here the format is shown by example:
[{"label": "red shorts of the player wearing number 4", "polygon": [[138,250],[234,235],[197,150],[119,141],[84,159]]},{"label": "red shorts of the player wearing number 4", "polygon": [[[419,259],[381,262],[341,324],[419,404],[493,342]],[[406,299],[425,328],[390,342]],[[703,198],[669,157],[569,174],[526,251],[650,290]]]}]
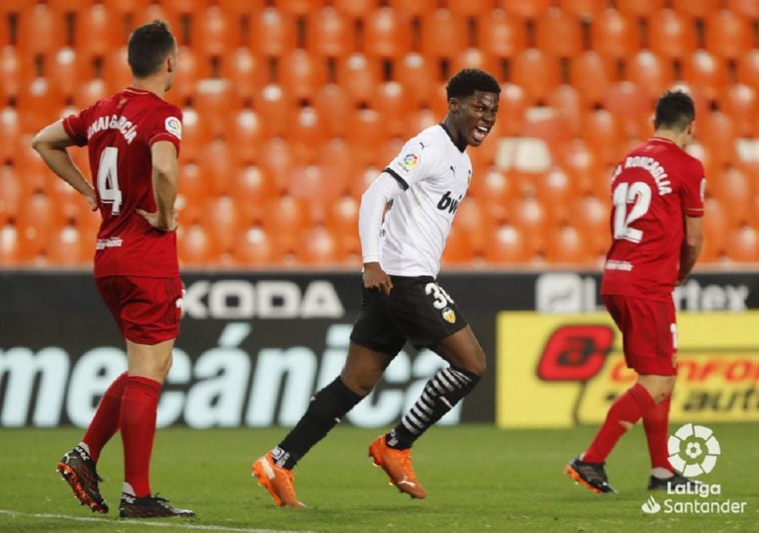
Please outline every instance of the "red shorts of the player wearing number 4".
[{"label": "red shorts of the player wearing number 4", "polygon": [[107,276],[95,282],[124,339],[158,344],[178,336],[182,313],[178,277]]}]

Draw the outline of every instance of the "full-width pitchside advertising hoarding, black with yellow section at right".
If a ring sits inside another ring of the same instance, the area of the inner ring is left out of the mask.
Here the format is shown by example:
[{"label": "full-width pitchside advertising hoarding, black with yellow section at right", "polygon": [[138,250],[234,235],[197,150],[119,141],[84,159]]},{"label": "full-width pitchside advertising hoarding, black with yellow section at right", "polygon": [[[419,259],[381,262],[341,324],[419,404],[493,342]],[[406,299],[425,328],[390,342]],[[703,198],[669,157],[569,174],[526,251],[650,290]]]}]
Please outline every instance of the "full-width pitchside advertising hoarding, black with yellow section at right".
[{"label": "full-width pitchside advertising hoarding, black with yellow section at right", "polygon": [[[631,374],[619,332],[600,312],[599,279],[596,273],[440,276],[489,368],[443,423],[600,421]],[[184,317],[159,424],[289,426],[339,374],[359,310],[360,274],[187,273],[183,280]],[[86,425],[126,367],[123,341],[90,273],[3,272],[0,295],[0,426]],[[759,309],[757,275],[696,275],[678,289],[676,303],[682,370],[673,419],[759,419],[759,311],[749,311]],[[346,421],[394,424],[445,364],[407,345]]]}]

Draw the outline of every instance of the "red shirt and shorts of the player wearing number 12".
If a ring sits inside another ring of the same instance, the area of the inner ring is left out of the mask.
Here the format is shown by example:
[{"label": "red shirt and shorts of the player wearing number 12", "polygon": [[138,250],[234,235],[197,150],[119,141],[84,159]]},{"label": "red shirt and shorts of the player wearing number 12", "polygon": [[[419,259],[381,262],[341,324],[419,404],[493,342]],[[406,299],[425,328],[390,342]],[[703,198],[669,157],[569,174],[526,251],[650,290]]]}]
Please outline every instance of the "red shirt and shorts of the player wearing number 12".
[{"label": "red shirt and shorts of the player wearing number 12", "polygon": [[705,186],[701,162],[658,137],[628,153],[614,171],[613,241],[601,295],[622,331],[628,367],[640,374],[676,374],[672,289],[685,236],[683,216],[703,216]]}]

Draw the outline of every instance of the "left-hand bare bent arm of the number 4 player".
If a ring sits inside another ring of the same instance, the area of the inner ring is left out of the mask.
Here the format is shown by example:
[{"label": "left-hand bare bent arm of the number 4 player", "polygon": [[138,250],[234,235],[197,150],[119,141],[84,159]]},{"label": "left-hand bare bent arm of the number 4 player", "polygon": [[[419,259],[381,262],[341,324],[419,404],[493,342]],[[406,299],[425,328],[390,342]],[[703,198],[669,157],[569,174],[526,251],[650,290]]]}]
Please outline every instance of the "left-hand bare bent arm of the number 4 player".
[{"label": "left-hand bare bent arm of the number 4 player", "polygon": [[67,149],[71,146],[74,146],[74,141],[63,128],[62,120],[47,126],[32,140],[32,147],[42,156],[52,172],[55,172],[59,178],[76,189],[90,204],[90,208],[96,211],[98,206],[95,189],[87,181],[87,178],[84,178],[82,172],[77,169],[68,154]]}]

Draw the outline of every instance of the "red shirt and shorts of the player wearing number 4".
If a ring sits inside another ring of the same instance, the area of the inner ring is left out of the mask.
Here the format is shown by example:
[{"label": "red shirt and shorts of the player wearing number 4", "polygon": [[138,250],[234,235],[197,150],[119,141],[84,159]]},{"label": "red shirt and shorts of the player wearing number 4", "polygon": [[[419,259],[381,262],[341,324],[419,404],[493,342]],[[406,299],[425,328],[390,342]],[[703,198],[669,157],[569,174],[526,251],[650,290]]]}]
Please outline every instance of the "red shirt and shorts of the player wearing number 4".
[{"label": "red shirt and shorts of the player wearing number 4", "polygon": [[63,127],[77,146],[87,145],[102,223],[95,278],[121,333],[155,344],[177,336],[181,281],[175,232],[162,232],[137,214],[154,212],[150,148],[166,140],[177,149],[181,111],[147,90],[128,87]]}]

